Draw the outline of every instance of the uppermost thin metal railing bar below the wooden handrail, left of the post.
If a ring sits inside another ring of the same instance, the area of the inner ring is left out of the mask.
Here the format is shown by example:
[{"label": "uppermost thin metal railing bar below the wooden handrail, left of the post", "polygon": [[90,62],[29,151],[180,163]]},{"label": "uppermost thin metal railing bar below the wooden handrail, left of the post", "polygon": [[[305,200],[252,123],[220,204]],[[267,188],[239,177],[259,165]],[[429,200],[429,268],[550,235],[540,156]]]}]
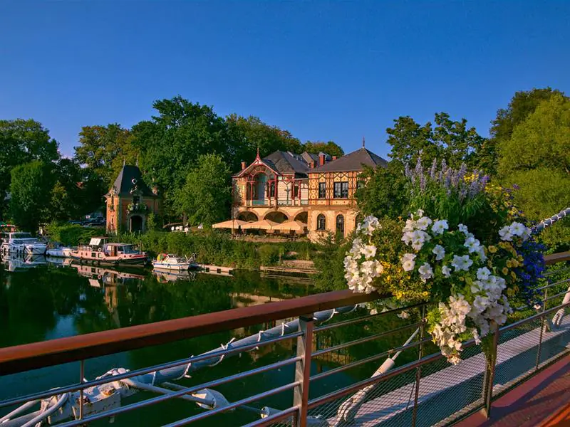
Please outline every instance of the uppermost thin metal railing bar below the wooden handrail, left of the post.
[{"label": "uppermost thin metal railing bar below the wooden handrail, left of the post", "polygon": [[133,376],[148,374],[149,372],[160,371],[162,369],[170,369],[170,368],[180,367],[182,365],[199,362],[201,360],[214,359],[214,358],[220,357],[222,355],[245,352],[248,349],[254,349],[256,347],[263,347],[265,345],[274,344],[276,342],[283,341],[285,339],[300,337],[302,334],[303,334],[303,332],[294,332],[292,334],[287,334],[283,337],[266,339],[265,341],[261,341],[261,342],[255,342],[252,344],[242,345],[239,347],[232,347],[230,349],[219,350],[219,352],[212,352],[209,354],[200,354],[199,356],[189,357],[188,359],[180,359],[180,360],[177,360],[175,362],[168,362],[165,364],[155,365],[153,367],[137,369],[135,371],[128,371],[128,372],[125,372],[125,374],[105,376],[105,378],[101,378],[101,379],[93,379],[92,381],[86,381],[83,383],[71,384],[69,386],[63,386],[63,387],[51,389],[48,391],[41,391],[41,392],[38,392],[35,394],[28,394],[27,396],[15,397],[13,399],[0,401],[0,408],[3,408],[4,406],[22,404],[22,403],[24,403],[26,401],[30,401],[30,400],[45,399],[47,397],[53,396],[54,394],[68,393],[71,391],[78,391],[81,389],[87,389],[88,387],[92,387],[92,386],[100,386],[101,384],[108,384],[108,383],[113,382],[113,381],[120,381],[121,379],[132,378]]}]

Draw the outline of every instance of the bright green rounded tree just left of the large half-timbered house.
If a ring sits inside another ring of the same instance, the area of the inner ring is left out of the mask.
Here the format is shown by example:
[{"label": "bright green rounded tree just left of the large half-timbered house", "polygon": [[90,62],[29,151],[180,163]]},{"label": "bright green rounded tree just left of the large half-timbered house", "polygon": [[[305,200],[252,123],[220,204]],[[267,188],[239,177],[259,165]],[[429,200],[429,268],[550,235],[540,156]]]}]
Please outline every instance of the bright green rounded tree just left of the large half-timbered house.
[{"label": "bright green rounded tree just left of the large half-timbered house", "polygon": [[227,218],[232,198],[230,172],[217,154],[204,154],[187,175],[178,191],[176,204],[179,214],[186,214],[191,224],[211,225]]}]

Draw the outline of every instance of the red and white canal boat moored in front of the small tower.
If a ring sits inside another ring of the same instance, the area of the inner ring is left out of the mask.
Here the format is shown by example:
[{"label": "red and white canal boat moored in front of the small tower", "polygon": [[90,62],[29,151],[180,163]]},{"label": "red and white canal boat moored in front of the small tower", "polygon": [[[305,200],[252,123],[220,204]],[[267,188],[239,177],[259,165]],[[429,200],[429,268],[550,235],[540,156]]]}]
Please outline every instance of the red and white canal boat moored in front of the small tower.
[{"label": "red and white canal boat moored in front of the small tower", "polygon": [[108,243],[106,237],[91,238],[89,244],[71,252],[71,258],[80,263],[144,266],[147,254],[129,243]]}]

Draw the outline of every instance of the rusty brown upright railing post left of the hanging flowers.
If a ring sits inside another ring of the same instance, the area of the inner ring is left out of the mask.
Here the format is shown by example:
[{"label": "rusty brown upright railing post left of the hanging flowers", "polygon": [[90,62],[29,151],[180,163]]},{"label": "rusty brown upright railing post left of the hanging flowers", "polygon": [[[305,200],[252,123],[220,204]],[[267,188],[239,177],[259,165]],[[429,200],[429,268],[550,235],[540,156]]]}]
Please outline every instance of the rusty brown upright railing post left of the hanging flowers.
[{"label": "rusty brown upright railing post left of the hanging flowers", "polygon": [[299,381],[299,385],[294,389],[293,406],[299,407],[296,426],[300,427],[306,427],[307,425],[313,328],[314,317],[312,313],[311,315],[299,316],[299,331],[303,332],[303,334],[297,338],[297,356],[302,357],[302,359],[295,364],[295,381]]}]

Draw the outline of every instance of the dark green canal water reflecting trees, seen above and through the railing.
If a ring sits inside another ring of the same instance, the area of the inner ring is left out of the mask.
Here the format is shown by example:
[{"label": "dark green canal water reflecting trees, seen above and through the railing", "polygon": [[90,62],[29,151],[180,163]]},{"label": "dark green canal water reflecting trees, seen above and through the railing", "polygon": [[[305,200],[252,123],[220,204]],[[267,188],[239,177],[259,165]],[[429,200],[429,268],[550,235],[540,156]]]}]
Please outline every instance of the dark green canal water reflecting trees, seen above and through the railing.
[{"label": "dark green canal water reflecting trees, seen above and through the railing", "polygon": [[[180,278],[168,274],[156,275],[142,268],[116,270],[64,264],[62,260],[54,260],[54,263],[48,261],[51,260],[43,257],[31,260],[14,258],[4,260],[0,266],[0,347],[265,304],[318,292],[310,280],[267,278],[251,272],[237,272],[230,277],[189,273],[186,277]],[[343,317],[343,320],[346,318]],[[329,347],[398,325],[402,325],[401,321],[393,317],[383,320],[381,324],[368,325],[366,328],[362,325],[351,325],[323,331],[319,333],[316,345],[318,348]],[[239,339],[271,326],[274,325],[258,325],[88,359],[85,376],[87,379],[94,379],[95,376],[102,375],[112,368],[138,369],[182,359],[219,347],[234,337]],[[398,347],[403,339],[405,335],[400,334],[384,342],[368,342],[366,345],[331,352],[316,359],[311,369],[315,373],[332,369],[388,349],[390,346]],[[186,386],[201,384],[277,362],[294,354],[294,340],[286,340],[279,344],[261,347],[257,352],[229,357],[216,367],[196,371],[192,374],[192,378],[178,381],[178,384]],[[415,357],[415,354],[410,352],[408,355],[403,355],[398,362],[406,362]],[[383,359],[380,359],[379,362],[327,376],[314,384],[311,383],[311,397],[370,376],[382,361]],[[289,384],[294,376],[293,369],[285,367],[257,374],[219,386],[217,391],[222,392],[229,401],[237,401],[274,386]],[[0,372],[0,400],[73,384],[78,382],[78,379],[78,363],[7,376],[1,376]],[[123,399],[122,404],[131,404],[152,396],[155,395],[140,392]],[[284,393],[259,401],[254,406],[286,408],[291,405],[291,399],[290,393]],[[0,408],[0,416],[6,412],[6,408]],[[114,423],[118,426],[160,426],[202,412],[203,410],[195,404],[172,399],[117,416]],[[259,416],[254,413],[237,410],[195,424],[237,426],[256,419],[259,419]],[[93,425],[103,426],[107,423],[108,420],[105,420]]]}]

